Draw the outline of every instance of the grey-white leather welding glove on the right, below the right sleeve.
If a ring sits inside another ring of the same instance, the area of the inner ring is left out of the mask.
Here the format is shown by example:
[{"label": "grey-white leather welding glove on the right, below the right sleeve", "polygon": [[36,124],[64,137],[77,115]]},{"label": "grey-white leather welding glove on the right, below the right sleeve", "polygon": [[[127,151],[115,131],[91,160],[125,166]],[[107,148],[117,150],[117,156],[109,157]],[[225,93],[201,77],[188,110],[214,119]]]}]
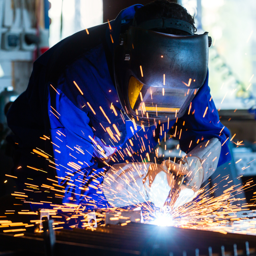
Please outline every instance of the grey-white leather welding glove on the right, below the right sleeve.
[{"label": "grey-white leather welding glove on the right, below the right sleeve", "polygon": [[216,170],[220,157],[221,143],[217,138],[198,144],[181,160],[182,165],[188,169],[181,192],[174,204],[174,208],[190,202],[202,183]]}]

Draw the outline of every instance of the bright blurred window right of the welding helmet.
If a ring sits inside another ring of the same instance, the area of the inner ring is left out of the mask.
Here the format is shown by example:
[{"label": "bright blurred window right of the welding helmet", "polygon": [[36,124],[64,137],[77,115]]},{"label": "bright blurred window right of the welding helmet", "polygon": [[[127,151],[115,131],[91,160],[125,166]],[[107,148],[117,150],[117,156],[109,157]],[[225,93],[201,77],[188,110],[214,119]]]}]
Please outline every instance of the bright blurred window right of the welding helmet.
[{"label": "bright blurred window right of the welding helmet", "polygon": [[195,16],[198,34],[208,31],[212,37],[209,86],[216,108],[255,106],[256,1],[180,0],[180,3]]}]

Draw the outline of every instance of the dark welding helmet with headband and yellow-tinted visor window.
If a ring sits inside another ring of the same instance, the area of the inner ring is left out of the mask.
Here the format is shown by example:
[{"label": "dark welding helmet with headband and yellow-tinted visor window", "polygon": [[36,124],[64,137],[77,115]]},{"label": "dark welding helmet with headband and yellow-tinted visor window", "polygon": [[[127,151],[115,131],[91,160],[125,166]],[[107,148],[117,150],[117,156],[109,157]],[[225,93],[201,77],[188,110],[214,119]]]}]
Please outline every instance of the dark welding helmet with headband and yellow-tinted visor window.
[{"label": "dark welding helmet with headband and yellow-tinted visor window", "polygon": [[[159,28],[190,35],[152,30]],[[206,79],[210,42],[208,32],[196,35],[191,24],[171,18],[147,20],[120,34],[114,76],[126,115],[139,126],[183,116]]]}]

